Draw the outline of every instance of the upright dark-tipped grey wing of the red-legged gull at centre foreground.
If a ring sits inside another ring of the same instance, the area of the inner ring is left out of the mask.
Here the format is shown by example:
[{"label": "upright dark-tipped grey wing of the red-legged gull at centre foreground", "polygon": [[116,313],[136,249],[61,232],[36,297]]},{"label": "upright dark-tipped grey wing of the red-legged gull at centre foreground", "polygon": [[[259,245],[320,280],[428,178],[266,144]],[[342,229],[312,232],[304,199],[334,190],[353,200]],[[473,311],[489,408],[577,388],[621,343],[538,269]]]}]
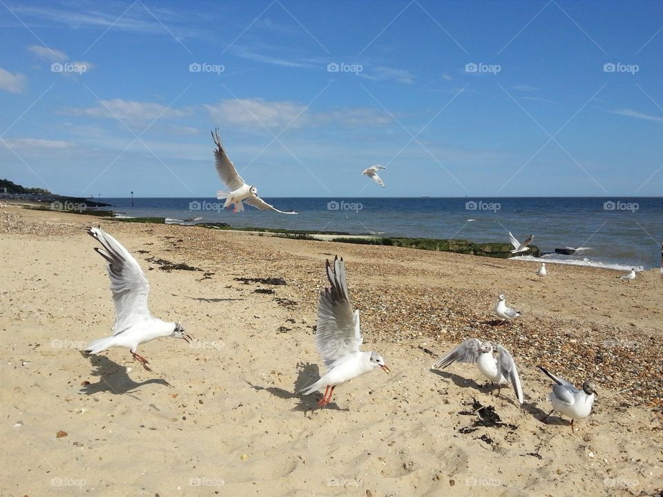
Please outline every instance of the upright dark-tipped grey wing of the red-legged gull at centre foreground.
[{"label": "upright dark-tipped grey wing of the red-legged gull at centre foreground", "polygon": [[334,267],[326,263],[330,288],[320,291],[316,347],[329,366],[345,355],[359,350],[359,311],[352,311],[347,293],[343,257],[334,257]]}]

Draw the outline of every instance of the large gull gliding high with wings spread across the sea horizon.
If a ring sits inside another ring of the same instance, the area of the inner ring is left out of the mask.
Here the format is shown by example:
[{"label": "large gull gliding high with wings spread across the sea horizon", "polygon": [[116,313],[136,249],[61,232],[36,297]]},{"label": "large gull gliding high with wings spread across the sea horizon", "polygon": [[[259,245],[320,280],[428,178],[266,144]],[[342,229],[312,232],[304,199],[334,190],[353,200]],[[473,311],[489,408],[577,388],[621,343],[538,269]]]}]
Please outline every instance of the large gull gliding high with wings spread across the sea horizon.
[{"label": "large gull gliding high with wings spread across the sea horizon", "polygon": [[219,130],[217,128],[216,132],[212,132],[212,139],[216,144],[214,149],[214,157],[216,159],[216,172],[219,173],[221,181],[224,182],[227,188],[230,188],[230,192],[227,191],[218,191],[216,197],[220,200],[226,199],[224,202],[224,208],[230,208],[232,204],[235,204],[233,208],[233,213],[238,213],[244,211],[244,204],[247,204],[260,209],[261,211],[276,211],[281,214],[296,214],[295,211],[279,211],[278,208],[273,205],[267,204],[265,200],[258,197],[258,190],[255,186],[250,186],[244,182],[244,179],[237,173],[237,169],[233,162],[228,158],[226,150],[221,144],[221,139],[219,138]]}]

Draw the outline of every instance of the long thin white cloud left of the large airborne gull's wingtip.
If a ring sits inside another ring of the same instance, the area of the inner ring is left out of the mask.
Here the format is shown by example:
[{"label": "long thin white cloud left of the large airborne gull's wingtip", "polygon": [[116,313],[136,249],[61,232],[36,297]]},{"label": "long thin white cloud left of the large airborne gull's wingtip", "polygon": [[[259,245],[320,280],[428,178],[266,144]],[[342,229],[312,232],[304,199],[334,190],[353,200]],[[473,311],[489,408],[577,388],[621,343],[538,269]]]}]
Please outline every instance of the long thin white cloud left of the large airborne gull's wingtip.
[{"label": "long thin white cloud left of the large airborne gull's wingtip", "polygon": [[73,115],[86,115],[89,117],[106,117],[120,119],[121,121],[152,121],[157,117],[184,117],[191,114],[191,110],[182,108],[168,108],[154,102],[111,99],[100,100],[95,107],[66,108],[66,113]]}]

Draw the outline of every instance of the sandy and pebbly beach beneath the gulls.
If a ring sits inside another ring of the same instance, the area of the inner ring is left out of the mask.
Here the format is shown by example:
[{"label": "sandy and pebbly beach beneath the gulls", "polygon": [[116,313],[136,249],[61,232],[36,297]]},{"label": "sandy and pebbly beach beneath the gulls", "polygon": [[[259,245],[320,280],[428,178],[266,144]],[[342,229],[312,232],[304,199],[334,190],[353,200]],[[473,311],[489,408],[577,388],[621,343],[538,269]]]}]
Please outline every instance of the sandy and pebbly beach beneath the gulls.
[{"label": "sandy and pebbly beach beneath the gulls", "polygon": [[[84,358],[113,305],[86,226],[133,253],[151,312],[195,341]],[[290,240],[191,226],[0,209],[1,496],[661,496],[663,277],[471,255]],[[392,374],[302,396],[325,259],[346,261],[364,350]],[[198,270],[167,270],[165,262]],[[280,277],[285,285],[236,278]],[[263,292],[256,292],[262,290]],[[269,290],[269,291],[267,291]],[[521,318],[502,327],[504,293]],[[525,403],[479,371],[431,369],[465,338],[511,351]],[[550,411],[543,364],[599,397]],[[474,400],[494,407],[481,426]]]}]

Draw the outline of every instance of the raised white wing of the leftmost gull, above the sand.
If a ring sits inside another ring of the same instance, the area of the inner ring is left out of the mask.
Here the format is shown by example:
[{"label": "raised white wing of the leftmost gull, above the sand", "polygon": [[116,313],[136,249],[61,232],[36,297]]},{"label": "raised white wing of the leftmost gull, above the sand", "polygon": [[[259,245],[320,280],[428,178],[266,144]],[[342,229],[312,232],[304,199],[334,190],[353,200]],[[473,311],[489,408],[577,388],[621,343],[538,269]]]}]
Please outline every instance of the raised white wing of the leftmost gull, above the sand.
[{"label": "raised white wing of the leftmost gull, above the sand", "polygon": [[115,303],[113,335],[117,335],[135,320],[150,317],[147,307],[150,284],[133,255],[115,238],[100,228],[88,228],[87,232],[102,244],[103,248],[95,247],[95,251],[108,262]]}]

